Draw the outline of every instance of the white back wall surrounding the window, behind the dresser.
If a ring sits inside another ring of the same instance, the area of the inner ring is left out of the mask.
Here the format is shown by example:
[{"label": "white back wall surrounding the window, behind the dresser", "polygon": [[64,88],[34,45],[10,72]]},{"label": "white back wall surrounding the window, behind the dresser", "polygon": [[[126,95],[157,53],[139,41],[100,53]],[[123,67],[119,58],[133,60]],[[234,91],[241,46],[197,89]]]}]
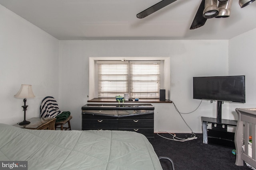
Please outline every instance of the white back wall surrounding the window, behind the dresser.
[{"label": "white back wall surrounding the window, behind the dresser", "polygon": [[[81,107],[89,95],[89,57],[157,56],[170,57],[170,100],[180,112],[190,112],[200,103],[192,99],[192,77],[228,75],[227,47],[228,40],[60,41],[60,107],[74,115],[73,129],[81,129]],[[155,131],[191,132],[173,104],[153,105]],[[203,101],[196,112],[183,115],[194,132],[201,132],[201,116],[216,117],[216,103]]]}]

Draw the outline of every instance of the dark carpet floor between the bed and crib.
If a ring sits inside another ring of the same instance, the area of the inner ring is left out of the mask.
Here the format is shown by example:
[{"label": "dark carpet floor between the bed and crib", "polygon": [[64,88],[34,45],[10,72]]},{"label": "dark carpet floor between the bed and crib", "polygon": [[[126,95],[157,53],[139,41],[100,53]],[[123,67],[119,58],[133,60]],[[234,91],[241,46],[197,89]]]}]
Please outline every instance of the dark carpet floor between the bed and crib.
[{"label": "dark carpet floor between the bed and crib", "polygon": [[[168,133],[160,135],[168,138]],[[176,133],[177,137],[186,138],[184,133]],[[202,134],[196,134],[198,139],[179,142],[164,139],[155,134],[154,139],[148,139],[157,156],[167,156],[174,162],[175,170],[252,170],[245,164],[236,166],[236,156],[232,154],[232,148],[204,144]],[[163,170],[171,170],[168,160],[160,160]]]}]

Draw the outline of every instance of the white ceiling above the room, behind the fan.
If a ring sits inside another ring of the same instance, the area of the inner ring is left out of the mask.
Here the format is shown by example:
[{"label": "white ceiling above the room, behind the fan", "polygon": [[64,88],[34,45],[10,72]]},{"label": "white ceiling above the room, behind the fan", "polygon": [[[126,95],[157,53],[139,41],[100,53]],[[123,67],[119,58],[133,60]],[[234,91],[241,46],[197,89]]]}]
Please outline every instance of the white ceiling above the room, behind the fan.
[{"label": "white ceiling above the room, behind the fan", "polygon": [[177,0],[143,19],[136,14],[160,0],[0,0],[0,4],[59,40],[230,39],[256,28],[256,2],[229,18],[190,30],[201,0]]}]

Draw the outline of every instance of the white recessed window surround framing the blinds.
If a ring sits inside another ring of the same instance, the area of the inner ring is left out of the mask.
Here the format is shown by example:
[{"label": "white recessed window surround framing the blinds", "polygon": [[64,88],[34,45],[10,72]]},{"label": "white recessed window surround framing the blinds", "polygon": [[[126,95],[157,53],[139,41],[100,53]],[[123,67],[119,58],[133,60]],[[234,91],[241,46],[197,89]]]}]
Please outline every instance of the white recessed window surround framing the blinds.
[{"label": "white recessed window surround framing the blinds", "polygon": [[[103,99],[98,99],[98,79],[97,79],[97,64],[95,63],[98,60],[119,60],[119,61],[125,61],[125,60],[162,60],[162,66],[161,66],[161,89],[165,89],[166,91],[166,99],[171,99],[171,87],[173,86],[173,83],[171,84],[171,77],[174,76],[174,74],[171,74],[171,62],[172,57],[170,56],[162,56],[162,57],[111,57],[108,55],[102,56],[102,57],[89,57],[88,61],[85,61],[85,67],[84,71],[86,72],[86,75],[82,74],[82,84],[86,86],[86,91],[82,92],[82,95],[84,96],[84,100],[87,102],[115,102],[116,100],[113,99],[108,99],[108,100],[103,100]],[[175,61],[174,61],[175,62]],[[89,70],[89,71],[88,71]],[[175,76],[173,77],[175,79]],[[159,102],[159,100],[139,100],[139,102],[146,102],[146,103],[151,103],[151,102]],[[151,101],[151,102],[150,102]],[[160,101],[161,102],[161,101]]]}]

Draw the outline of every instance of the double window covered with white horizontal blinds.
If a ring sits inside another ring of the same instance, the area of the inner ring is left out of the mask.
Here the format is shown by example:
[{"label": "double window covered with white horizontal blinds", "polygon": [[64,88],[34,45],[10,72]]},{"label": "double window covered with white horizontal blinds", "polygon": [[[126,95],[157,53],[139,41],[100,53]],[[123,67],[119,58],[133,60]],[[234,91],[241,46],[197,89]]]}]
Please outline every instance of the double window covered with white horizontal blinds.
[{"label": "double window covered with white horizontal blinds", "polygon": [[98,98],[158,99],[160,61],[97,61]]}]

